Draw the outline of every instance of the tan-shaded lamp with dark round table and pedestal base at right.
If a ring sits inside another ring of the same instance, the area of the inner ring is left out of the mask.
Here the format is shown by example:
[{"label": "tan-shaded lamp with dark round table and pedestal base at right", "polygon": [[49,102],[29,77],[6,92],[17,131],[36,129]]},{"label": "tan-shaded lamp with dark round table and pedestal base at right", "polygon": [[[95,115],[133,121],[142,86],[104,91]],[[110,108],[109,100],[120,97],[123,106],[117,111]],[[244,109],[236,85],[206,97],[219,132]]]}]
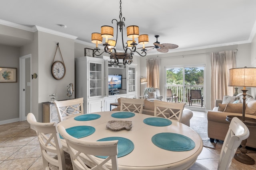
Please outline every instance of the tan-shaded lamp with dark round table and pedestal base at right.
[{"label": "tan-shaded lamp with dark round table and pedestal base at right", "polygon": [[[245,100],[246,100],[246,92],[248,91],[248,89],[246,89],[246,87],[256,87],[256,79],[255,78],[256,78],[256,68],[244,67],[244,68],[229,69],[228,86],[243,87],[243,89],[241,89],[243,92],[242,121],[246,126],[255,126],[256,125],[256,119],[249,118],[249,117],[246,117],[246,119],[245,119],[245,107],[246,107]],[[238,116],[236,116],[236,117],[238,117]],[[230,121],[230,120],[228,120],[228,121]],[[252,165],[255,163],[255,161],[254,161],[254,159],[252,159],[250,156],[248,156],[246,154],[247,153],[246,142],[247,142],[247,139],[242,141],[242,143],[241,143],[242,148],[240,148],[240,151],[242,153],[235,154],[234,158],[244,164]]]}]

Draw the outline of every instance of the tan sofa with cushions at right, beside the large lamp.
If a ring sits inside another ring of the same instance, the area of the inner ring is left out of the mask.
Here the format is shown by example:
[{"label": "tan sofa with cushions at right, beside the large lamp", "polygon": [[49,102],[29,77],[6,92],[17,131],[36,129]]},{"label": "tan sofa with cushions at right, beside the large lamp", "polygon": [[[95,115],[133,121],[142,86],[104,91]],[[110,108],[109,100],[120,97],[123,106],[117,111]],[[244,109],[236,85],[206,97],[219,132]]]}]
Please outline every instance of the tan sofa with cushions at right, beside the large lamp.
[{"label": "tan sofa with cushions at right, beside the large lamp", "polygon": [[[254,106],[252,106],[252,104]],[[225,106],[226,105],[226,106]],[[228,115],[242,116],[242,103],[238,104],[222,104],[222,100],[216,100],[215,107],[212,111],[207,112],[208,119],[208,137],[213,142],[214,139],[224,141],[228,132],[230,122],[226,121]],[[254,103],[246,104],[246,117],[252,117],[256,119],[256,101]],[[251,113],[248,114],[249,110]],[[219,111],[218,111],[219,110]],[[254,113],[253,113],[254,112]],[[248,127],[250,136],[247,139],[246,146],[256,148],[256,126]]]}]

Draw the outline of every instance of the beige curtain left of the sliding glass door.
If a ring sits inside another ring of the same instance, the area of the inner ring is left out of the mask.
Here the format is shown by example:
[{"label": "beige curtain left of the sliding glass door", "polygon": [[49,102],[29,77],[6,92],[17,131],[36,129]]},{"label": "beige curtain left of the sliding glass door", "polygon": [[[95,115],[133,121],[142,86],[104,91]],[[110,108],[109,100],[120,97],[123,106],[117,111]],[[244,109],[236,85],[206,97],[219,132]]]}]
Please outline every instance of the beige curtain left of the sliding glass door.
[{"label": "beige curtain left of the sliding glass door", "polygon": [[159,59],[147,60],[147,87],[159,88]]}]

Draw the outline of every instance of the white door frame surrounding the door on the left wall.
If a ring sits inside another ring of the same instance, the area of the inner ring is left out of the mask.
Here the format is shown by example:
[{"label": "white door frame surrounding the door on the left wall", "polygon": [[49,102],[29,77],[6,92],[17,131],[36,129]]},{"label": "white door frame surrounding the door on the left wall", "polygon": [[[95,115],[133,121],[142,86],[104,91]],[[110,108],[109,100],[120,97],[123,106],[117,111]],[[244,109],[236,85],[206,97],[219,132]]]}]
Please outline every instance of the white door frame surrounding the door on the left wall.
[{"label": "white door frame surrounding the door on the left wall", "polygon": [[[26,109],[26,80],[25,80],[25,67],[26,59],[30,59],[30,75],[31,75],[31,54],[24,55],[20,57],[20,107],[19,107],[19,117],[20,121],[26,120],[25,109]],[[29,76],[30,76],[29,75]],[[31,76],[30,76],[30,87],[32,86]],[[31,88],[30,88],[30,110],[31,110]]]}]

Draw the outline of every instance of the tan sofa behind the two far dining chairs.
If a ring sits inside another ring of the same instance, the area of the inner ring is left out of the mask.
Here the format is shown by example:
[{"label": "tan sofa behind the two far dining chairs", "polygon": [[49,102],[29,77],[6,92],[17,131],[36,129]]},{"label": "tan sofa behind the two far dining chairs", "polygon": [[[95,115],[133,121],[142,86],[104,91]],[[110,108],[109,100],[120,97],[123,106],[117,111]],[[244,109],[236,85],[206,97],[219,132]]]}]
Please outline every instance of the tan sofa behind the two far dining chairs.
[{"label": "tan sofa behind the two far dining chairs", "polygon": [[[119,104],[119,106],[112,109],[112,111],[119,111],[120,110],[120,98],[118,98],[118,104]],[[142,114],[154,116],[154,102],[151,102],[149,100],[144,100],[144,107],[143,107],[143,110],[142,110]],[[166,116],[169,117],[170,113],[166,113]],[[190,119],[192,118],[192,116],[193,116],[193,112],[190,109],[185,108],[182,112],[182,117],[181,117],[180,122],[187,125],[187,126],[190,126]],[[161,116],[161,117],[163,117],[163,116]]]}]

